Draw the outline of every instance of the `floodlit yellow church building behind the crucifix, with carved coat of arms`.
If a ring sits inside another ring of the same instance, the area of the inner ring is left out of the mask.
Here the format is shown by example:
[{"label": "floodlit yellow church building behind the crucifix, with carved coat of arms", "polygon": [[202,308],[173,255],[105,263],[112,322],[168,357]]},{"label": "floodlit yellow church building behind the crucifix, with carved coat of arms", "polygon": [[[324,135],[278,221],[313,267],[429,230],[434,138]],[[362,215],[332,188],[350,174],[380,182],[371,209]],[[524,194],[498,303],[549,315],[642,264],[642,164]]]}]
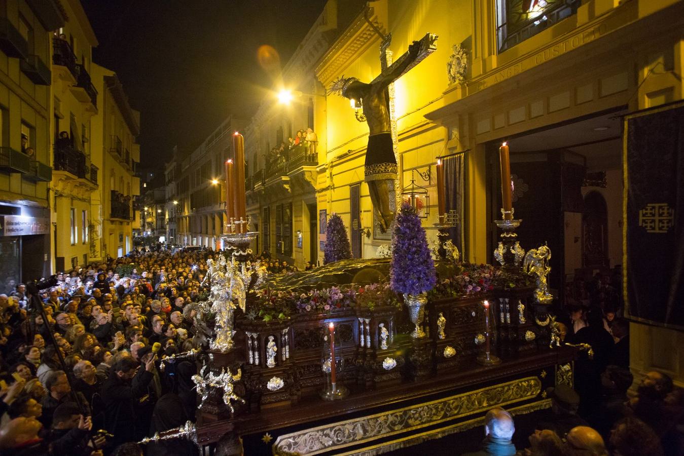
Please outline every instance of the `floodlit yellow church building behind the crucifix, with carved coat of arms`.
[{"label": "floodlit yellow church building behind the crucifix, with carved coat of arms", "polygon": [[[412,40],[436,33],[437,50],[394,85],[399,185],[413,178],[428,191],[423,226],[434,239],[434,167],[438,158],[448,161],[447,209],[459,215],[455,241],[466,260],[494,263],[498,149],[508,142],[521,244],[549,243],[551,285],[566,301],[580,276],[622,264],[622,116],[681,100],[684,3],[537,3],[376,1],[330,46],[316,74],[325,87],[343,75],[369,82],[381,72],[387,33],[394,59]],[[363,181],[367,125],[338,96],[328,96],[325,117],[316,125],[327,143],[317,175],[319,219],[341,215],[352,247],[360,237],[357,254],[374,256],[389,237],[373,226]],[[419,176],[428,170],[429,179]],[[586,222],[596,200],[605,208],[600,249],[589,242]],[[659,368],[684,379],[681,332],[640,323],[631,323],[631,332],[637,378]]]}]

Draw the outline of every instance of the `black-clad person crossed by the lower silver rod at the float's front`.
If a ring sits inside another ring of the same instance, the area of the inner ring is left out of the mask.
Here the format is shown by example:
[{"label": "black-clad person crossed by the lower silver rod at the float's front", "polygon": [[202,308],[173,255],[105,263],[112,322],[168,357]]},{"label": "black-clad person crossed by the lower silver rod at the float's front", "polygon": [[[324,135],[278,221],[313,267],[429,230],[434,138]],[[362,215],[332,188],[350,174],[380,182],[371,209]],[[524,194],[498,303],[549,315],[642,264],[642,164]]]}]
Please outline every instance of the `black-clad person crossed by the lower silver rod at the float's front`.
[{"label": "black-clad person crossed by the lower silver rod at the float's front", "polygon": [[[187,420],[188,417],[183,410],[181,398],[172,393],[164,394],[155,405],[149,435],[182,426]],[[197,454],[197,446],[185,439],[155,442],[147,446],[147,456],[192,456]]]}]

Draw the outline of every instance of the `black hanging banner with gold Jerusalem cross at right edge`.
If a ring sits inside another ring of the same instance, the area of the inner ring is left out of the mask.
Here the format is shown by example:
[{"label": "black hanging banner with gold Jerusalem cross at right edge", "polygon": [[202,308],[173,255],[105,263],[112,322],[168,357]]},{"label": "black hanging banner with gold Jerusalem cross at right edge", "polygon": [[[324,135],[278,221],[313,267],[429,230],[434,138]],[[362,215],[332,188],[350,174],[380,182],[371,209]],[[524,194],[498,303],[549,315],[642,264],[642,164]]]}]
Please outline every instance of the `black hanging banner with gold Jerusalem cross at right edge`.
[{"label": "black hanging banner with gold Jerusalem cross at right edge", "polygon": [[625,118],[625,302],[684,327],[684,103]]}]

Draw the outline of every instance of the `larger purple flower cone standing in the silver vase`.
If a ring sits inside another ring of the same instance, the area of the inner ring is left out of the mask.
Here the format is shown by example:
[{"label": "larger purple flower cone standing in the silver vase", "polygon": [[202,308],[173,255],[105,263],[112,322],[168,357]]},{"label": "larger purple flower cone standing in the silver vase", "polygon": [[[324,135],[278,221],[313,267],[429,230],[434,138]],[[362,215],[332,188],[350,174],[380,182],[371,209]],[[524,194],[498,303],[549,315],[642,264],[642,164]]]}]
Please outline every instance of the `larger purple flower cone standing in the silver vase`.
[{"label": "larger purple flower cone standing in the silver vase", "polygon": [[430,291],[436,282],[425,230],[415,210],[404,203],[392,237],[392,289],[406,295]]}]

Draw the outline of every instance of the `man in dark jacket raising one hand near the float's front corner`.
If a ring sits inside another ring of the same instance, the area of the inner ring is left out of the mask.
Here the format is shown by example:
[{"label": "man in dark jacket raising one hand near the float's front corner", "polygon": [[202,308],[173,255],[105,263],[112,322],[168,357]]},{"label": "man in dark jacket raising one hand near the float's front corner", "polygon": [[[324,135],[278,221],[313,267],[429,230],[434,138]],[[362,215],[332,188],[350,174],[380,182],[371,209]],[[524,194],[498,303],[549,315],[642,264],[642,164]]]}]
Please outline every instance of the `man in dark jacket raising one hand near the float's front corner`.
[{"label": "man in dark jacket raising one hand near the float's front corner", "polygon": [[118,360],[111,367],[111,374],[102,386],[106,429],[114,434],[114,446],[133,442],[136,435],[144,433],[144,430],[141,432],[137,429],[137,423],[133,418],[137,403],[147,394],[147,388],[153,379],[150,371],[155,366],[155,358],[151,358],[144,365],[144,371],[136,376],[138,366],[133,358]]}]

